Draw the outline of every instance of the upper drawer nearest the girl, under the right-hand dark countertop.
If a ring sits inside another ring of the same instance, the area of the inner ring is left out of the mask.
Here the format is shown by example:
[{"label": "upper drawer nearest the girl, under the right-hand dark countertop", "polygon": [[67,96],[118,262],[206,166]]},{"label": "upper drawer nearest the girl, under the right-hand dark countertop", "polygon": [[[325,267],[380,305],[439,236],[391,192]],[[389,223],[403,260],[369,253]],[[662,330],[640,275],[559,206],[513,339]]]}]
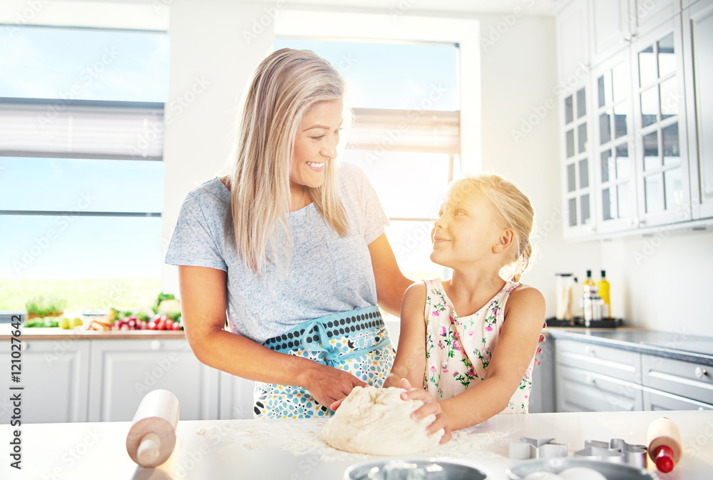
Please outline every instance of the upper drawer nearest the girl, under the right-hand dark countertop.
[{"label": "upper drawer nearest the girl, under the right-hand dark countertop", "polygon": [[641,354],[585,342],[558,339],[555,342],[558,364],[641,383]]}]

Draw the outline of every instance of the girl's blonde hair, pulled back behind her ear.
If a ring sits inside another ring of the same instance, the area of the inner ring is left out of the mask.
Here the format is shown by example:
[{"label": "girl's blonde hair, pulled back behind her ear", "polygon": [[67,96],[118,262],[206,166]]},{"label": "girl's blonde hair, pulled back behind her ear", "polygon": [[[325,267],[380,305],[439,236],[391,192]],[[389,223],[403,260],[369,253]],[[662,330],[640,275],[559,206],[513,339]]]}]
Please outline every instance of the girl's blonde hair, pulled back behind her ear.
[{"label": "girl's blonde hair, pulled back behind her ear", "polygon": [[[511,228],[515,233],[515,255],[508,265],[513,266],[510,278],[519,282],[530,267],[533,245],[530,234],[533,231],[535,210],[530,199],[513,183],[499,175],[486,174],[461,178],[451,183],[451,189],[477,188],[490,203],[498,228]],[[514,264],[514,265],[513,265]]]}]

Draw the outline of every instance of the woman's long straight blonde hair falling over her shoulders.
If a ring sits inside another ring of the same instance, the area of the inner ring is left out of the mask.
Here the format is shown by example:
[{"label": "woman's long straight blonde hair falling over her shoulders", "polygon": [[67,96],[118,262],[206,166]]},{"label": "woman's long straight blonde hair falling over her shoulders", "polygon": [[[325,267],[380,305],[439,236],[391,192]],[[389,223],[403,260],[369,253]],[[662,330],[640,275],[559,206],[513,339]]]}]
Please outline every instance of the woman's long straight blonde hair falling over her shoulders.
[{"label": "woman's long straight blonde hair falling over her shoulders", "polygon": [[[324,58],[309,50],[282,48],[260,63],[250,82],[231,160],[231,202],[225,241],[247,267],[262,275],[277,258],[279,225],[285,235],[286,260],[292,246],[289,222],[289,175],[294,136],[304,114],[317,102],[344,101],[346,83]],[[349,116],[347,116],[349,117]],[[349,118],[344,118],[345,123]],[[347,214],[337,196],[335,166],[328,161],[324,184],[308,188],[322,218],[347,233]],[[271,255],[267,247],[271,246]]]}]

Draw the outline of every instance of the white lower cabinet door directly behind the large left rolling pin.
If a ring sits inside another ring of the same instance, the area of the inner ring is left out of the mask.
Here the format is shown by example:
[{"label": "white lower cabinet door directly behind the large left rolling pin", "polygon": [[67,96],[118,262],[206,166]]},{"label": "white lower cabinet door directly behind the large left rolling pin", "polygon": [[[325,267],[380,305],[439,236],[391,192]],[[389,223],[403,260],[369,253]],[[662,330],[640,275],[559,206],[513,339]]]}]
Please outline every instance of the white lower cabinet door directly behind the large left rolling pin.
[{"label": "white lower cabinet door directly behind the large left rolling pin", "polygon": [[185,339],[93,340],[91,366],[89,422],[130,421],[153,389],[178,397],[182,420],[217,418],[220,372]]}]

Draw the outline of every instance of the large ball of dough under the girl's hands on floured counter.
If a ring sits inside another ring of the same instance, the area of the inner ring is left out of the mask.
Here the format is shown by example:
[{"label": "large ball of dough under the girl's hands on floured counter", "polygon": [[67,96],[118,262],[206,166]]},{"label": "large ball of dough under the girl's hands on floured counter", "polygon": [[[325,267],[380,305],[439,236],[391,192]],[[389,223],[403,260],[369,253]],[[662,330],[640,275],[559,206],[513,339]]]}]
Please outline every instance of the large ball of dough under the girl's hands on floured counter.
[{"label": "large ball of dough under the girl's hands on floured counter", "polygon": [[335,449],[369,455],[407,455],[436,447],[443,429],[426,434],[436,416],[411,419],[424,402],[403,400],[403,392],[396,387],[354,387],[324,424],[324,439]]}]

